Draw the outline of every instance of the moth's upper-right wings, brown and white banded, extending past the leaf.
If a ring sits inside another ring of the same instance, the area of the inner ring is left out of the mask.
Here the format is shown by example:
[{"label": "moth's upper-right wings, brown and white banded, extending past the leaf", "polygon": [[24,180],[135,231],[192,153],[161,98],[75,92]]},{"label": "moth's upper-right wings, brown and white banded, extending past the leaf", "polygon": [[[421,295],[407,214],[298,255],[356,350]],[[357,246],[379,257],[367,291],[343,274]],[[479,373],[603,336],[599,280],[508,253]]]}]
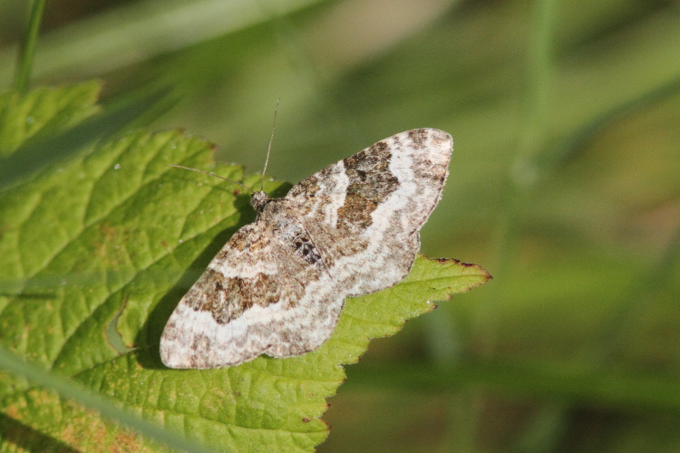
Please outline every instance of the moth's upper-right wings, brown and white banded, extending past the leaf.
[{"label": "moth's upper-right wings, brown and white banded, extending past the leaf", "polygon": [[370,294],[409,273],[420,228],[442,198],[452,146],[442,130],[408,130],[291,188],[286,198],[324,245],[335,291]]}]

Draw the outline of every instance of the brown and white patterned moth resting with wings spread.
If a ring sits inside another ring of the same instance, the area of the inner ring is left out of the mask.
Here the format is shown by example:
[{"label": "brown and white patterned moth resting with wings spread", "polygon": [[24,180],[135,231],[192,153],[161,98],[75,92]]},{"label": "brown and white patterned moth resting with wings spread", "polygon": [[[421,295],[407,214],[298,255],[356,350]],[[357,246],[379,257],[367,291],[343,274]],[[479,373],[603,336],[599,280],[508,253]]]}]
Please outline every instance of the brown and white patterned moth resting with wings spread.
[{"label": "brown and white patterned moth resting with wings spread", "polygon": [[442,130],[378,141],[302,180],[284,198],[254,192],[241,227],[182,297],[160,338],[170,368],[216,368],[311,352],[345,298],[408,275],[442,197],[452,153]]}]

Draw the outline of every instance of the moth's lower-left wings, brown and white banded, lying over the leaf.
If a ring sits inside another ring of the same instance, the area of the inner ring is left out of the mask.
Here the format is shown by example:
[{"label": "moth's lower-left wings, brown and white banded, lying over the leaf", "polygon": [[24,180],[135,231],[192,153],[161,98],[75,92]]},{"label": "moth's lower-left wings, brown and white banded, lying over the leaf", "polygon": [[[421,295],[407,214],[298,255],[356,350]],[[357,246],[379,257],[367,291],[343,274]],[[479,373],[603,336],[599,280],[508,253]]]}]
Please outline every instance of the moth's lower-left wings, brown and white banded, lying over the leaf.
[{"label": "moth's lower-left wings, brown and white banded, lying over the leaf", "polygon": [[[285,223],[285,222],[284,222]],[[232,236],[170,315],[160,357],[170,368],[215,368],[262,353],[315,350],[333,333],[343,294],[313,294],[321,265],[258,218]],[[293,222],[288,232],[301,230]]]}]

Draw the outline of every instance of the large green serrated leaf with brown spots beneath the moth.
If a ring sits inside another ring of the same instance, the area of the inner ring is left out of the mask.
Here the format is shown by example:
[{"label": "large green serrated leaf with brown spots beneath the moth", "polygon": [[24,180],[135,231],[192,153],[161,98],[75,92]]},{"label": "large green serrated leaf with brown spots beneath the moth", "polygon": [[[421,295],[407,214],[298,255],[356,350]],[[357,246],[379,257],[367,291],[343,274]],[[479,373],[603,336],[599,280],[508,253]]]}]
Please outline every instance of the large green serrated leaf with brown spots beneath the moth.
[{"label": "large green serrated leaf with brown spots beneath the moth", "polygon": [[[91,108],[55,115],[83,117]],[[171,311],[228,237],[254,218],[249,194],[238,186],[166,165],[209,169],[212,152],[209,142],[177,130],[137,131],[1,191],[0,342],[199,444],[313,451],[327,435],[320,419],[325,398],[345,380],[341,364],[357,361],[371,338],[392,335],[405,320],[431,311],[432,301],[490,275],[476,265],[420,256],[401,284],[348,299],[332,338],[316,352],[262,356],[219,370],[168,370],[158,345]],[[242,177],[234,166],[212,171]],[[259,177],[244,182],[257,187]],[[265,183],[274,196],[288,187]],[[55,449],[163,449],[6,373],[0,407],[3,448],[48,439]]]}]

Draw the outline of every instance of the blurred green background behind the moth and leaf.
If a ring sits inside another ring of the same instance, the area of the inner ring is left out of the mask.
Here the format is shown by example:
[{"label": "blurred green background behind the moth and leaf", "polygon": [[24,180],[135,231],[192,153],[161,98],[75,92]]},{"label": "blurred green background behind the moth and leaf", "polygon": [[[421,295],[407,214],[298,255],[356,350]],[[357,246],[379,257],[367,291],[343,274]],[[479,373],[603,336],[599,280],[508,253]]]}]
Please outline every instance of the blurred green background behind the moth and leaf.
[{"label": "blurred green background behind the moth and leaf", "polygon": [[[8,90],[29,3],[0,3]],[[450,132],[423,253],[494,279],[371,343],[320,452],[680,451],[680,2],[52,0],[32,86],[296,182]]]}]

